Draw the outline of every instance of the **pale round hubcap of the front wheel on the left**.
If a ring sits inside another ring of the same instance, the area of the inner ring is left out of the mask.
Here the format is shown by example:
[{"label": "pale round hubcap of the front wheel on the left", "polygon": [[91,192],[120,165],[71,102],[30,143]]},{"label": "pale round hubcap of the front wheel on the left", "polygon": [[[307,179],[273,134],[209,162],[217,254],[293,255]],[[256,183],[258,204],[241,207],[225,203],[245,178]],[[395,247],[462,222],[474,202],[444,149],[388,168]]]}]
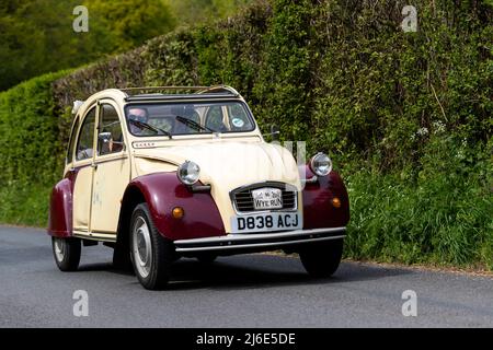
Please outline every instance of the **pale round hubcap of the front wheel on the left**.
[{"label": "pale round hubcap of the front wheel on the left", "polygon": [[135,220],[131,230],[131,254],[138,273],[146,278],[152,266],[152,245],[149,226],[142,217]]}]

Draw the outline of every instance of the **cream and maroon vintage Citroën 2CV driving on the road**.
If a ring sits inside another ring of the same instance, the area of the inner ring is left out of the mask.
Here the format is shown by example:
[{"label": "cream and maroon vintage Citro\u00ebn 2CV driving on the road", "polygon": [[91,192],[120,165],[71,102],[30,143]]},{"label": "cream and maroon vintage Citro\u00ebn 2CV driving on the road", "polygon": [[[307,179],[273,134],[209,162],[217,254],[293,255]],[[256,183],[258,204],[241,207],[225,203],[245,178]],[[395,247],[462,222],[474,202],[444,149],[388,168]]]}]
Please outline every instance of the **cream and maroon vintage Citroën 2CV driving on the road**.
[{"label": "cream and maroon vintage Citro\u00ebn 2CV driving on the road", "polygon": [[180,257],[284,249],[313,276],[337,269],[349,205],[331,160],[298,166],[265,142],[232,88],[111,89],[73,112],[50,199],[60,270],[99,242],[147,289],[163,288]]}]

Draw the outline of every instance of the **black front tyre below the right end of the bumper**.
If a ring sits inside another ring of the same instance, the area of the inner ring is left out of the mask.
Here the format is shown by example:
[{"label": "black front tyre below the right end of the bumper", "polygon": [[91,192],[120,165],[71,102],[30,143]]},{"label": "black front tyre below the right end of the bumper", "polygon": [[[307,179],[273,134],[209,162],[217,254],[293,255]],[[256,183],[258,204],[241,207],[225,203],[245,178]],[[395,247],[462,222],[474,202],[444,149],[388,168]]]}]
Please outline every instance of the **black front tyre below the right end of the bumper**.
[{"label": "black front tyre below the right end of the bumper", "polygon": [[310,276],[330,277],[339,268],[343,253],[343,240],[301,246],[299,257]]}]

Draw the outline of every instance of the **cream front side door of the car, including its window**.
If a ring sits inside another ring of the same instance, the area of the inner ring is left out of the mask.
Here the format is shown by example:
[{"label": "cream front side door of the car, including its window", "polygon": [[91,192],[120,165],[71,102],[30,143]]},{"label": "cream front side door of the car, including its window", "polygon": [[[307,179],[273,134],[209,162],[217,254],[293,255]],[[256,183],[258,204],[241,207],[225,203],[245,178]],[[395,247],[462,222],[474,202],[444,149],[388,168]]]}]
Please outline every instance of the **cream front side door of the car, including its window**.
[{"label": "cream front side door of the car, including its window", "polygon": [[123,195],[130,180],[130,161],[117,105],[110,100],[100,101],[98,119],[91,232],[100,236],[115,235]]}]

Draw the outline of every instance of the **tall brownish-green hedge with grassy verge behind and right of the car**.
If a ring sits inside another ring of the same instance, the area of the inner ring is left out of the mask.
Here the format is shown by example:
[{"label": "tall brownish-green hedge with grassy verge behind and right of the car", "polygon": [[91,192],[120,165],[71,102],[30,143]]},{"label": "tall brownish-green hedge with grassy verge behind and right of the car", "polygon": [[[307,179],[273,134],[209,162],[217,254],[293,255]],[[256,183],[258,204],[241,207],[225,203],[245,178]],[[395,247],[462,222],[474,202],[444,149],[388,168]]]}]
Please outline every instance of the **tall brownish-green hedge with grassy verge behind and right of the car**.
[{"label": "tall brownish-green hedge with grassy verge behind and right of the car", "polygon": [[[230,84],[262,128],[276,122],[285,140],[331,154],[351,192],[347,256],[493,268],[493,8],[416,0],[419,30],[404,33],[406,4],[257,1],[153,38],[46,89],[46,142],[62,149],[67,106],[104,88]],[[21,160],[2,182],[39,162]],[[44,186],[54,180],[39,174]]]}]

